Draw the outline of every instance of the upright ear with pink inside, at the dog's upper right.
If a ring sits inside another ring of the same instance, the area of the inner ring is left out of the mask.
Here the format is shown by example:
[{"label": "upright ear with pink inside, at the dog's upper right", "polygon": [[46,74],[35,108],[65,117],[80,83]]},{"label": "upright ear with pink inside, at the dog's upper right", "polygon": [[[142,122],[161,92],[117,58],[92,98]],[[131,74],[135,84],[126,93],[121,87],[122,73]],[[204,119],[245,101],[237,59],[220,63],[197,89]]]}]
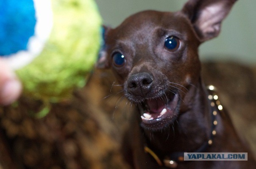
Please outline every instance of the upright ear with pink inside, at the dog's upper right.
[{"label": "upright ear with pink inside, at the dog's upper right", "polygon": [[237,0],[189,0],[182,12],[189,17],[200,41],[216,37],[221,22]]}]

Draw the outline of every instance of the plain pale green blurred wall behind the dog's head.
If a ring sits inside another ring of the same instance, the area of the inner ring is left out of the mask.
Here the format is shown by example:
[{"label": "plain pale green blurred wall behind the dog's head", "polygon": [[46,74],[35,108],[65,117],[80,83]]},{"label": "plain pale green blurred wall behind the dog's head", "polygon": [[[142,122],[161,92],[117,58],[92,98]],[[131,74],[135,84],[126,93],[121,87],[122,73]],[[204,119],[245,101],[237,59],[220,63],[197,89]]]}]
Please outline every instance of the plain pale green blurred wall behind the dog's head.
[{"label": "plain pale green blurred wall behind the dog's head", "polygon": [[[178,11],[186,0],[95,0],[103,22],[116,27],[127,16],[153,9]],[[238,0],[222,25],[219,37],[200,46],[202,60],[236,60],[256,65],[256,0]]]}]

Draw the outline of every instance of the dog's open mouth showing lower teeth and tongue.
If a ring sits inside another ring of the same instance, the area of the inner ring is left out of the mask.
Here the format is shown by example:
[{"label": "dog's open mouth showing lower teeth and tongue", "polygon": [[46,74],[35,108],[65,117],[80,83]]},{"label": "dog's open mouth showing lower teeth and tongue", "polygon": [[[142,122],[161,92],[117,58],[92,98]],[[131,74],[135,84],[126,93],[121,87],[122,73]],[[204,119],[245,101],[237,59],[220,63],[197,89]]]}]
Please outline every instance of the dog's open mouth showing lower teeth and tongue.
[{"label": "dog's open mouth showing lower teeth and tongue", "polygon": [[[147,127],[164,127],[171,123],[179,108],[178,94],[147,99],[139,105],[142,125]],[[161,125],[161,126],[160,126]],[[164,125],[164,126],[163,126]]]}]

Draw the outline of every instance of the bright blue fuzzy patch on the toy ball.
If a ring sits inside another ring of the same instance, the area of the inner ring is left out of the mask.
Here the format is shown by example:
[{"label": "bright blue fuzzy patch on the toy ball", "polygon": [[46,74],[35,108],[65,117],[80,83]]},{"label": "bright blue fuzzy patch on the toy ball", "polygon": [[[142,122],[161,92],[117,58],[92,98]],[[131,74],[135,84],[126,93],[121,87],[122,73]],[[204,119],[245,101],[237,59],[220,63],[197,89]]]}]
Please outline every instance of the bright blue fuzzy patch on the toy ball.
[{"label": "bright blue fuzzy patch on the toy ball", "polygon": [[0,57],[26,50],[36,25],[33,0],[0,0],[0,9]]}]

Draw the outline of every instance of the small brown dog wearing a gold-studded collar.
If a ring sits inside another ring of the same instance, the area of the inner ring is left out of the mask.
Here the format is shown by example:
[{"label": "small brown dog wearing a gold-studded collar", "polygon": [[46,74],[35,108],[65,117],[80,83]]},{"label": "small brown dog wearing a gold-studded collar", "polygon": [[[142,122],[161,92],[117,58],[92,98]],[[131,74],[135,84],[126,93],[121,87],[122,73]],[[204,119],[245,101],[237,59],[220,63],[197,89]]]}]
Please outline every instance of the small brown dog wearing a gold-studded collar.
[{"label": "small brown dog wearing a gold-studded collar", "polygon": [[[112,68],[138,107],[123,152],[136,169],[255,166],[213,87],[203,85],[198,46],[220,33],[236,0],[189,0],[181,11],[143,11],[106,28],[97,66]],[[248,161],[183,161],[184,152],[248,153]]]}]

